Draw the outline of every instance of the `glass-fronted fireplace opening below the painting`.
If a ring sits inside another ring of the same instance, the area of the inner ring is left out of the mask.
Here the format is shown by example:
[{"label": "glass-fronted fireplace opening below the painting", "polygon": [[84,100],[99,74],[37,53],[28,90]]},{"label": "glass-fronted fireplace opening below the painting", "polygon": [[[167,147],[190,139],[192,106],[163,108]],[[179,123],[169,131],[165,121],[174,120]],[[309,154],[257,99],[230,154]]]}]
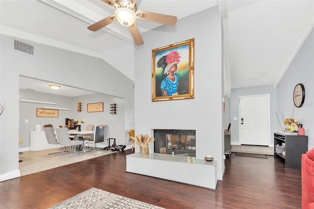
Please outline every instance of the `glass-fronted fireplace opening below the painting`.
[{"label": "glass-fronted fireplace opening below the painting", "polygon": [[195,130],[154,130],[154,152],[196,157]]}]

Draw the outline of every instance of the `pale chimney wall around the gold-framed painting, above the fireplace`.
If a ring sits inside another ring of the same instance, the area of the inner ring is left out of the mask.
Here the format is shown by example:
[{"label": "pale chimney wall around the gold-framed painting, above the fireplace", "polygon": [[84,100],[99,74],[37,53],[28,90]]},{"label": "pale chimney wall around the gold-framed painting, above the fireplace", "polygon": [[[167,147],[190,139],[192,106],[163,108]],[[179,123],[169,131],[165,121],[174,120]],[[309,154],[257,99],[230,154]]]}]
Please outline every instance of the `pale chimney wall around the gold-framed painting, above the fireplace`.
[{"label": "pale chimney wall around the gold-framed painting, above the fireplace", "polygon": [[[195,98],[152,102],[152,50],[195,39]],[[211,155],[217,177],[224,170],[222,148],[222,32],[217,7],[161,26],[143,34],[144,45],[135,48],[135,134],[154,129],[196,130],[196,158]]]}]

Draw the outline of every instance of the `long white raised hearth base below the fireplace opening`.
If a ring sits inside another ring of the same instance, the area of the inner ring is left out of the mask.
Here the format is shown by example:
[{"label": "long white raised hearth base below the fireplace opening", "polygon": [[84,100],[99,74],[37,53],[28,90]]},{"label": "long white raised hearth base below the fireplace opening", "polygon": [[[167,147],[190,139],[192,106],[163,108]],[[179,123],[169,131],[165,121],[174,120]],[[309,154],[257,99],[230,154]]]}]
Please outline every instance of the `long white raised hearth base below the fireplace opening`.
[{"label": "long white raised hearth base below the fireplace opening", "polygon": [[216,161],[160,153],[127,155],[127,172],[216,190]]}]

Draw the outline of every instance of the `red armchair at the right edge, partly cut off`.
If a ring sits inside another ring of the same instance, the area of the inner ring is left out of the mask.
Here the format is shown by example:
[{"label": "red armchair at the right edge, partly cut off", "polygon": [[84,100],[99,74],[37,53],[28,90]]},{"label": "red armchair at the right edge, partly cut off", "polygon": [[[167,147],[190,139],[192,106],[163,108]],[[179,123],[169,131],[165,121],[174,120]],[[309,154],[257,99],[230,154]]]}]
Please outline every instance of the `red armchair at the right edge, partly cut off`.
[{"label": "red armchair at the right edge, partly cut off", "polygon": [[314,149],[302,155],[302,209],[314,209]]}]

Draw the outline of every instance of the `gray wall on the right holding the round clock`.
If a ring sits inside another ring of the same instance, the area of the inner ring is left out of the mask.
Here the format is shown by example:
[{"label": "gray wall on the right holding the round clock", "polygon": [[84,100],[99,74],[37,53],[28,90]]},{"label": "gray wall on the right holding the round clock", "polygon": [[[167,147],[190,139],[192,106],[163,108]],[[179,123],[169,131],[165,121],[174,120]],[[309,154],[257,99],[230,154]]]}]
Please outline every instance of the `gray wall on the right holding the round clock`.
[{"label": "gray wall on the right holding the round clock", "polygon": [[[302,107],[295,107],[292,93],[298,83],[303,83],[305,87],[305,101]],[[309,136],[309,149],[314,147],[314,29],[303,43],[299,52],[291,62],[286,74],[277,86],[277,106],[278,113],[283,112],[285,118],[297,118],[303,128],[305,135]],[[283,123],[281,123],[283,125]],[[276,123],[277,130],[280,129]]]}]

